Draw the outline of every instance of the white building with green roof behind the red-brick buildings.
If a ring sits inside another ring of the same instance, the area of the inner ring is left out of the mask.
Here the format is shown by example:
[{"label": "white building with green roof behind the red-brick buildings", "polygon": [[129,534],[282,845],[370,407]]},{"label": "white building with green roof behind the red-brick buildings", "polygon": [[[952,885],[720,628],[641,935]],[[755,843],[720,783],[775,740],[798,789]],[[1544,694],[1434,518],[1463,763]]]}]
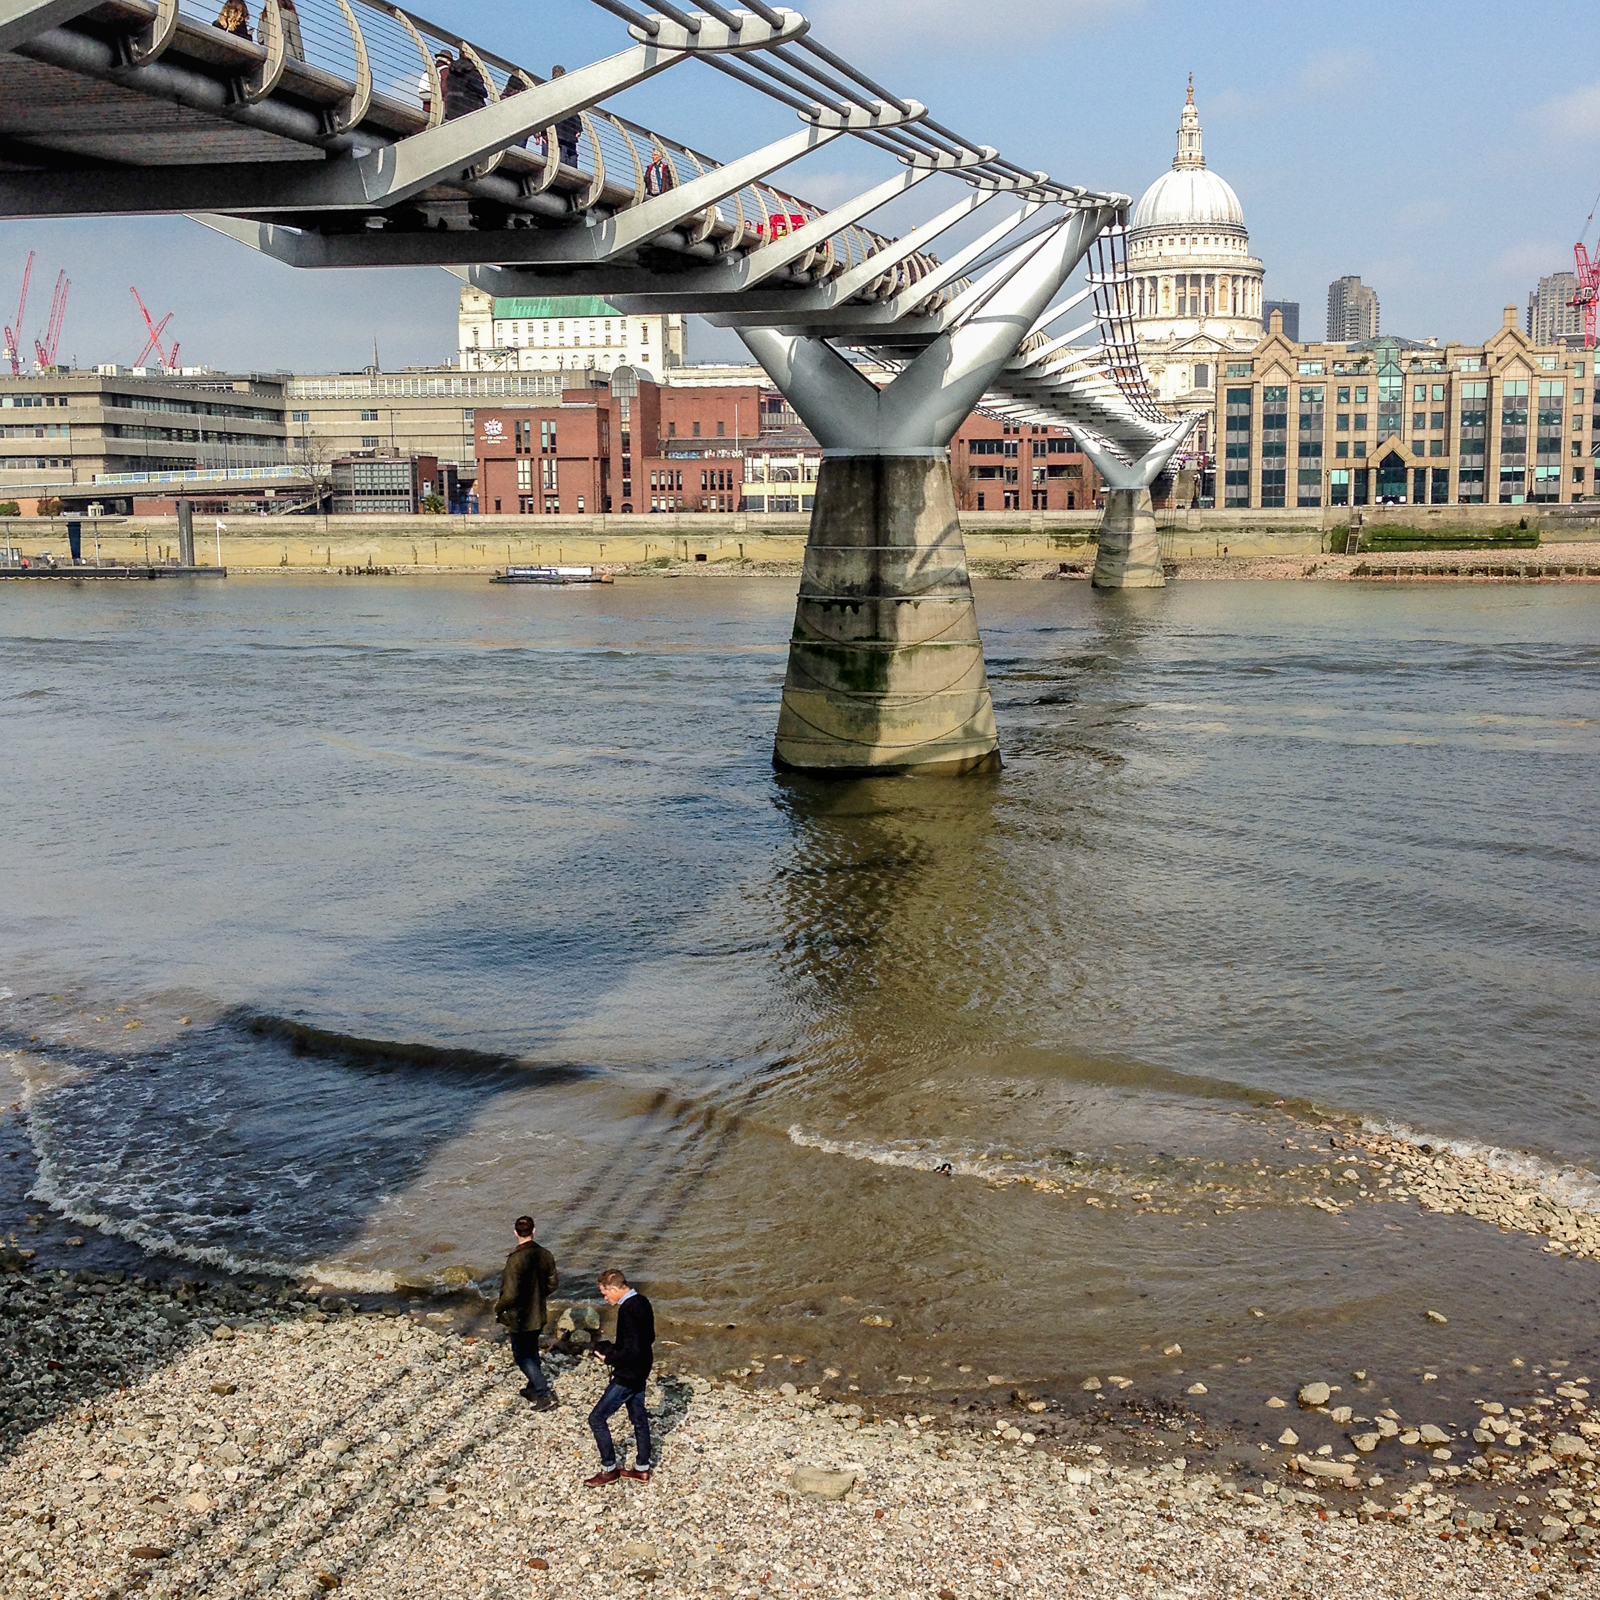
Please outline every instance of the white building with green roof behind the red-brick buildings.
[{"label": "white building with green roof behind the red-brick buildings", "polygon": [[496,298],[464,288],[459,365],[464,373],[560,373],[634,366],[662,378],[685,358],[678,314],[635,317],[595,296]]}]

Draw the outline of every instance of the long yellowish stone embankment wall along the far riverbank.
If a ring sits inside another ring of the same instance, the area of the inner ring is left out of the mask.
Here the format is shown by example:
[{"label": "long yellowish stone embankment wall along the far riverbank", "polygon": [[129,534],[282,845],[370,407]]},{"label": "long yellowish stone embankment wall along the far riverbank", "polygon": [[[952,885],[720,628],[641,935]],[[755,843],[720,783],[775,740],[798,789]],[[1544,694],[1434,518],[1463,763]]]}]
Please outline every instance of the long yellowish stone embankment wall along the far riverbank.
[{"label": "long yellowish stone embankment wall along the far riverbank", "polygon": [[[1586,507],[1587,509],[1587,507]],[[1378,526],[1486,533],[1526,517],[1547,544],[1600,538],[1600,502],[1592,515],[1536,506],[1386,506],[1357,514],[1363,531]],[[1162,554],[1170,560],[1256,555],[1318,555],[1342,550],[1350,514],[1322,510],[1158,512]],[[222,565],[234,571],[338,571],[387,566],[402,571],[493,571],[507,563],[626,566],[645,562],[797,563],[806,515],[678,514],[632,517],[224,517]],[[1093,546],[1098,510],[963,512],[973,562],[1040,562]],[[61,518],[6,518],[0,539],[27,554],[67,554]],[[203,565],[218,557],[214,518],[195,518]],[[85,520],[83,555],[109,562],[165,560],[176,554],[174,517]]]}]

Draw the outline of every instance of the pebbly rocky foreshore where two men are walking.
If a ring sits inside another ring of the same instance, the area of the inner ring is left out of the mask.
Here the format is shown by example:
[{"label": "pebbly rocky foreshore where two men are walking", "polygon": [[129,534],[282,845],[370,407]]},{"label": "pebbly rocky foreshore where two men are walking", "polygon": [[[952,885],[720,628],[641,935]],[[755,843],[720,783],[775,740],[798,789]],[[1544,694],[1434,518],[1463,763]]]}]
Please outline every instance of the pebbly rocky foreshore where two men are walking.
[{"label": "pebbly rocky foreshore where two men are walking", "polygon": [[[18,1597],[648,1584],[1549,1600],[1595,1581],[1600,1426],[1576,1378],[1517,1408],[1486,1402],[1466,1446],[1413,1419],[1358,1418],[1336,1386],[1309,1382],[1280,1402],[1294,1440],[1262,1482],[1178,1448],[1110,1461],[1082,1434],[1051,1434],[1061,1403],[1027,1390],[981,1410],[930,1390],[909,1402],[659,1373],[654,1480],[587,1490],[598,1366],[555,1354],[563,1406],[536,1414],[506,1344],[443,1312],[13,1270],[0,1341],[0,1589]],[[1301,1446],[1312,1422],[1355,1450]],[[1368,1432],[1458,1459],[1379,1493]],[[1462,1494],[1496,1477],[1498,1509]]]}]

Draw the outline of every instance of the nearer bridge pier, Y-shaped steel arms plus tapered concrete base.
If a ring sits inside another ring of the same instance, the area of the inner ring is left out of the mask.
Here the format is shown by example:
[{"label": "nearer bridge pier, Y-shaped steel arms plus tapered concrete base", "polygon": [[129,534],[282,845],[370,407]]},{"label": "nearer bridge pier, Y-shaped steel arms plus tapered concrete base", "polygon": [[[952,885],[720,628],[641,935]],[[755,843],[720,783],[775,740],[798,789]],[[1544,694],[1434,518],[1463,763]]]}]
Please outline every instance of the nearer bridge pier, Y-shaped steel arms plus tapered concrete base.
[{"label": "nearer bridge pier, Y-shaped steel arms plus tapered concrete base", "polygon": [[739,338],[822,445],[773,760],[832,774],[1000,765],[949,443],[1110,213],[1074,211],[875,387],[821,338]]}]

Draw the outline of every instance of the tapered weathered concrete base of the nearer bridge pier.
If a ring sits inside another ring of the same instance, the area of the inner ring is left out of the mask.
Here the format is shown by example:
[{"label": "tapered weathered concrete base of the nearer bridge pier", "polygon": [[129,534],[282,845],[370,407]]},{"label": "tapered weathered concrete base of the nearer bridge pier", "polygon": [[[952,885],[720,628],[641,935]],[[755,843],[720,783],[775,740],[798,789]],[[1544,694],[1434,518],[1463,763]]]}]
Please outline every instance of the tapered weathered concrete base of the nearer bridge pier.
[{"label": "tapered weathered concrete base of the nearer bridge pier", "polygon": [[840,776],[1000,765],[949,458],[824,459],[773,760]]}]

